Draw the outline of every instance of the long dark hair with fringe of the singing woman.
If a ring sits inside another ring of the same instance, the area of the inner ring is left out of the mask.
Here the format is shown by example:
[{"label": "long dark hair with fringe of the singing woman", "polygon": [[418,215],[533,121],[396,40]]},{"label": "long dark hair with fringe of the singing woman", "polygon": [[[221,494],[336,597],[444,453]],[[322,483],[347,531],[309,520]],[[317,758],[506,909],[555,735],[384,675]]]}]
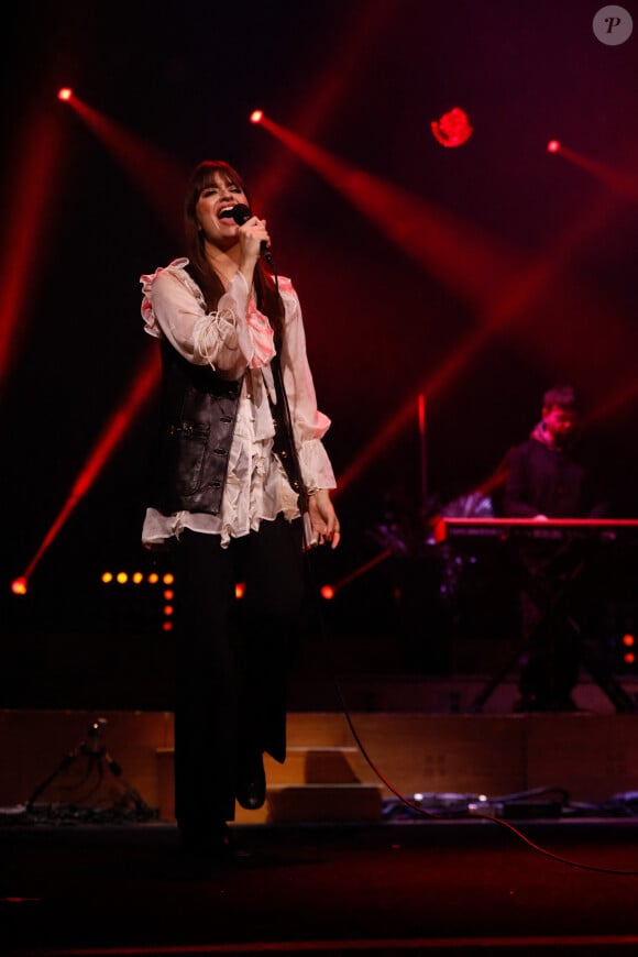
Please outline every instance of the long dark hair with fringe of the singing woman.
[{"label": "long dark hair with fringe of the singing woman", "polygon": [[[186,239],[186,255],[190,263],[189,271],[204,293],[206,304],[210,311],[217,309],[221,296],[224,293],[223,284],[212,268],[204,251],[204,233],[197,222],[196,207],[202,191],[215,184],[216,175],[221,176],[228,184],[239,187],[249,199],[248,189],[242,177],[223,160],[205,160],[199,163],[190,175],[186,196],[184,199],[184,233]],[[275,341],[282,342],[284,322],[284,308],[277,284],[273,274],[266,268],[263,260],[255,265],[254,285],[257,298],[257,307],[268,317],[271,326],[275,330]]]}]

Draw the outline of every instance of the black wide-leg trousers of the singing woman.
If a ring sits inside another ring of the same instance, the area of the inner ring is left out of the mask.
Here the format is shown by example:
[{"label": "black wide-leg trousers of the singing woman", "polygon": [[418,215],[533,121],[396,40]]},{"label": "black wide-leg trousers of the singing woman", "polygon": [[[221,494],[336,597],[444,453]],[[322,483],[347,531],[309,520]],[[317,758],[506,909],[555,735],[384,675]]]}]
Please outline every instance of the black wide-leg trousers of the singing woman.
[{"label": "black wide-leg trousers of the singing woman", "polygon": [[[243,597],[235,584],[243,582]],[[183,828],[234,820],[239,762],[286,757],[287,680],[305,598],[301,525],[176,546],[175,809]]]}]

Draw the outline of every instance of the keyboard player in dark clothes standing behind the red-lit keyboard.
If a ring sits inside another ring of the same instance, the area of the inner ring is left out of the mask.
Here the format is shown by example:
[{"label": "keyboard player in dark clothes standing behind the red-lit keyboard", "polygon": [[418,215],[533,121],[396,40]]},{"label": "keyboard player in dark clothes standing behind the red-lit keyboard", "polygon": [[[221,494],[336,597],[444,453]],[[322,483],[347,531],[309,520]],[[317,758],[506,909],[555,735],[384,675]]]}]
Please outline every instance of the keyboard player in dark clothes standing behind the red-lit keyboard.
[{"label": "keyboard player in dark clothes standing behind the red-lit keyboard", "polygon": [[[508,518],[602,518],[607,504],[579,458],[578,396],[557,385],[543,395],[541,418],[508,455],[503,513]],[[525,650],[515,711],[574,711],[580,642],[578,578],[582,543],[532,536],[517,539],[521,570],[520,615]]]}]

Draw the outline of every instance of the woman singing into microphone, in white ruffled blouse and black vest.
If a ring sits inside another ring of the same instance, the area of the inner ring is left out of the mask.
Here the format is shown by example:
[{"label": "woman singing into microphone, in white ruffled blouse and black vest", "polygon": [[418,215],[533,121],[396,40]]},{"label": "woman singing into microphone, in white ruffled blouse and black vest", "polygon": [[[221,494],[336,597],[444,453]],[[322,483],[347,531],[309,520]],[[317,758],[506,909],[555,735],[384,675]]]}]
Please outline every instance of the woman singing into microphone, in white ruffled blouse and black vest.
[{"label": "woman singing into microphone, in white ruffled blouse and black vest", "polygon": [[241,855],[235,801],[261,807],[263,755],[286,757],[304,554],[340,539],[330,420],[270,243],[239,174],[205,161],[185,196],[186,257],[141,277],[163,370],[142,542],[175,554],[177,826],[188,855],[224,862]]}]

